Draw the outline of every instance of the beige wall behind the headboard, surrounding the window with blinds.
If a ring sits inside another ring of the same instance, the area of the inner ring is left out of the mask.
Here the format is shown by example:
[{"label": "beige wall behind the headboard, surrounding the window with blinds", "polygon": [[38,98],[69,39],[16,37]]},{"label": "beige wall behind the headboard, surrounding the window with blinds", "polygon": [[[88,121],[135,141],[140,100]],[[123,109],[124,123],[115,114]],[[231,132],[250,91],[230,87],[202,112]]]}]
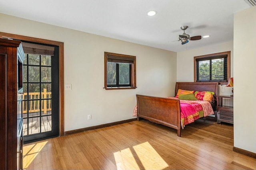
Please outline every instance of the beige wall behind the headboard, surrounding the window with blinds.
[{"label": "beige wall behind the headboard, surrounding the window with blinds", "polygon": [[[204,41],[203,39],[200,41]],[[193,42],[190,42],[193,43]],[[233,41],[226,43],[208,45],[205,47],[191,49],[177,53],[177,82],[194,82],[194,57],[200,55],[220,53],[224,51],[231,51],[230,56],[230,71],[233,76]],[[232,88],[219,86],[218,94],[231,95]],[[232,105],[232,101],[226,101],[227,105]]]}]

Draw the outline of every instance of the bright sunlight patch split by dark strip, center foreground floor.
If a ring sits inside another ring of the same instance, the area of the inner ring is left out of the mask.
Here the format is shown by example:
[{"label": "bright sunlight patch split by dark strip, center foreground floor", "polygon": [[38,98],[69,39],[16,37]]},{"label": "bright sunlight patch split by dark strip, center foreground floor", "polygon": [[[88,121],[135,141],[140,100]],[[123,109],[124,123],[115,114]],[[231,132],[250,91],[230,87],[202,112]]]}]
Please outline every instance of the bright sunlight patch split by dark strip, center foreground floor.
[{"label": "bright sunlight patch split by dark strip, center foreground floor", "polygon": [[168,167],[168,164],[148,142],[115,152],[114,157],[117,170],[163,170]]}]

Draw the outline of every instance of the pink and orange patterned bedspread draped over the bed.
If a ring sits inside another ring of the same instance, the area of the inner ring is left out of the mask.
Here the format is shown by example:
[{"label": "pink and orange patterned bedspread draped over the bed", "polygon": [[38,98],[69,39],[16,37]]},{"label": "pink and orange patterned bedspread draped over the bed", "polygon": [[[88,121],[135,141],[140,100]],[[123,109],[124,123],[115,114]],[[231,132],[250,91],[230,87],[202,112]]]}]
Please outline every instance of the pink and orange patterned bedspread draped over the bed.
[{"label": "pink and orange patterned bedspread draped over the bed", "polygon": [[[210,102],[203,100],[180,100],[181,127],[194,122],[196,119],[214,114]],[[137,116],[137,105],[134,107],[133,116]]]}]

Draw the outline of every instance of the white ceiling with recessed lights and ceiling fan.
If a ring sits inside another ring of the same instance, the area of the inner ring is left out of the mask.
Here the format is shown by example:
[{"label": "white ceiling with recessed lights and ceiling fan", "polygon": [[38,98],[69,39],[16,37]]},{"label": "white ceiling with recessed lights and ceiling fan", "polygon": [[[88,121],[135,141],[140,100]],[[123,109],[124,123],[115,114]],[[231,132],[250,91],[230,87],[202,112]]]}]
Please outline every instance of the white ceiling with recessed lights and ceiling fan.
[{"label": "white ceiling with recessed lights and ceiling fan", "polygon": [[[176,52],[232,41],[233,15],[246,8],[244,0],[0,0],[3,14]],[[182,25],[190,37],[211,37],[181,45]]]}]

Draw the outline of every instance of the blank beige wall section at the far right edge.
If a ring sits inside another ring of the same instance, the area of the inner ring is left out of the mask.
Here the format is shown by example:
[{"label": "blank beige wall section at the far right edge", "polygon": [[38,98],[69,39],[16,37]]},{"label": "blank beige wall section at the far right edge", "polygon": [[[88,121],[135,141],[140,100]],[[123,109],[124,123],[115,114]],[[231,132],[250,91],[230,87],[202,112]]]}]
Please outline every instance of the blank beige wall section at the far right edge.
[{"label": "blank beige wall section at the far right edge", "polygon": [[256,153],[256,6],[234,15],[234,147]]}]

